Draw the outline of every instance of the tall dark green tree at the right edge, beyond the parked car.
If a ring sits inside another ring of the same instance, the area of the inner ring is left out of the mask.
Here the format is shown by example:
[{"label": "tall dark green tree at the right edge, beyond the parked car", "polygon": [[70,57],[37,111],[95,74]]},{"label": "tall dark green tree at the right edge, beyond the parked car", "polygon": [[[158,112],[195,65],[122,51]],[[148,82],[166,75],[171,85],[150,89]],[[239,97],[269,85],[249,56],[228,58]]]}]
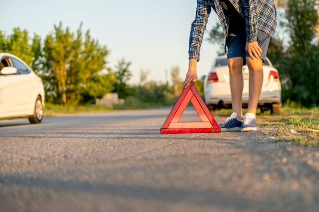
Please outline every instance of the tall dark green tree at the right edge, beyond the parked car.
[{"label": "tall dark green tree at the right edge, beyond the parked car", "polygon": [[319,48],[315,0],[288,0],[286,18],[291,42],[284,57],[283,75],[291,101],[304,106],[319,103]]}]

